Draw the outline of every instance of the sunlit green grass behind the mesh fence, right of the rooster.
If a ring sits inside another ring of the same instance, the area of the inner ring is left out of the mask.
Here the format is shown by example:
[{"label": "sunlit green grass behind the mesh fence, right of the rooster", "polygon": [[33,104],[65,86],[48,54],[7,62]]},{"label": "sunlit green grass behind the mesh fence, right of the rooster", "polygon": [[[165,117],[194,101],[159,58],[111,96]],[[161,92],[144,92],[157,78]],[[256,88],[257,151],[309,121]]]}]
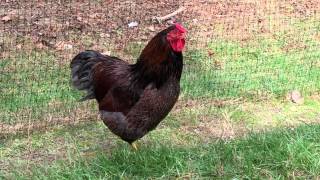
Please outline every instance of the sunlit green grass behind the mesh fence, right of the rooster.
[{"label": "sunlit green grass behind the mesh fence, right of the rooster", "polygon": [[[257,35],[245,42],[215,39],[186,54],[182,87],[187,97],[281,97],[320,89],[319,23],[299,21],[289,32]],[[213,55],[209,56],[208,51]]]}]

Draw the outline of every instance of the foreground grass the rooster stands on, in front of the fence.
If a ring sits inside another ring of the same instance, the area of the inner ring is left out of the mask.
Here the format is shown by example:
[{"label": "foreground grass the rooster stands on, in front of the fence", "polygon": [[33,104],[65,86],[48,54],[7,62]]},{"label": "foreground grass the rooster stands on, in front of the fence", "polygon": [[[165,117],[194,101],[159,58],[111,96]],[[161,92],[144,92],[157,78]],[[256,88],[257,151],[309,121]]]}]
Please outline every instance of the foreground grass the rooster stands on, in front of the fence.
[{"label": "foreground grass the rooster stands on, in front of the fence", "polygon": [[[112,135],[102,122],[61,126],[29,136],[9,136],[0,140],[3,176],[13,179],[320,176],[320,126],[295,128],[302,122],[319,122],[317,99],[305,98],[303,105],[276,99],[256,103],[227,101],[219,107],[208,103],[180,102],[179,106],[189,105],[175,108],[155,131],[140,140],[138,152]],[[292,128],[286,128],[288,125]]]}]

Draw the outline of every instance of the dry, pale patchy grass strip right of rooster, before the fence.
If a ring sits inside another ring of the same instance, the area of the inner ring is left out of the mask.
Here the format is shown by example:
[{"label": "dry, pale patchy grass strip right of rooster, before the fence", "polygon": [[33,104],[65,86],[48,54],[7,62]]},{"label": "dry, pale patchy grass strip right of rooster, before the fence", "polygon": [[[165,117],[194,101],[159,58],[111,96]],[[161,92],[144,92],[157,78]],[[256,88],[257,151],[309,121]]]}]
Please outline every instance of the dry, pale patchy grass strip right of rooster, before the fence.
[{"label": "dry, pale patchy grass strip right of rooster, before the fence", "polygon": [[[233,139],[249,132],[269,131],[279,127],[297,127],[320,123],[319,96],[305,104],[290,100],[181,100],[173,116],[181,119],[179,130],[194,133],[204,141]],[[185,115],[186,114],[186,115]]]}]

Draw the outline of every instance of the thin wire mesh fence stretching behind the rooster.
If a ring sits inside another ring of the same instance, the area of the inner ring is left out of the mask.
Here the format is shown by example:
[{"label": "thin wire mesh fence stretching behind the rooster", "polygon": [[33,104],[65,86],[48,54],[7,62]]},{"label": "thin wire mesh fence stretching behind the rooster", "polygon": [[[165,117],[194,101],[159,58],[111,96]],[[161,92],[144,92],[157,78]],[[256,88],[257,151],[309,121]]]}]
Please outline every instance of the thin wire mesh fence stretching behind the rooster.
[{"label": "thin wire mesh fence stretching behind the rooster", "polygon": [[0,2],[2,137],[98,120],[95,102],[77,102],[71,59],[94,49],[134,62],[171,21],[155,17],[179,7],[185,9],[173,18],[188,29],[181,99],[255,100],[320,89],[317,1]]}]

